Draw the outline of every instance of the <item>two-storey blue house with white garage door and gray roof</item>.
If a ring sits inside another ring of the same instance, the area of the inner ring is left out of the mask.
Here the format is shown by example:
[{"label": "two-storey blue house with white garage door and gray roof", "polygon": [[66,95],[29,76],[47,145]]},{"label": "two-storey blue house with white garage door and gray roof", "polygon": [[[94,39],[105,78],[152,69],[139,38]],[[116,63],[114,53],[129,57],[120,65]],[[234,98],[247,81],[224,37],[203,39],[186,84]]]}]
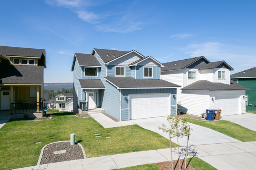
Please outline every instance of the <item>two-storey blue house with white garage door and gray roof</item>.
[{"label": "two-storey blue house with white garage door and gray roof", "polygon": [[120,121],[175,115],[179,86],[161,80],[160,67],[160,62],[135,50],[74,53],[74,113],[84,110],[80,101],[86,101],[89,109],[102,108]]}]

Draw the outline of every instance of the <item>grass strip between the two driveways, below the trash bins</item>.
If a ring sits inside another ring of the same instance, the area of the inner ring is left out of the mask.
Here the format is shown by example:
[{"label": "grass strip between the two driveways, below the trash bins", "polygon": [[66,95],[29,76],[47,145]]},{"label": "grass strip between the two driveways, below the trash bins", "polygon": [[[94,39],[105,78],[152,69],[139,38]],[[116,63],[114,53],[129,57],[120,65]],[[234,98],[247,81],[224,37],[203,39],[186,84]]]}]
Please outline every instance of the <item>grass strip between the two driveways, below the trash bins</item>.
[{"label": "grass strip between the two driveways, below the trash bins", "polygon": [[242,142],[256,141],[256,132],[230,121],[200,121],[185,118],[187,122],[210,128]]}]

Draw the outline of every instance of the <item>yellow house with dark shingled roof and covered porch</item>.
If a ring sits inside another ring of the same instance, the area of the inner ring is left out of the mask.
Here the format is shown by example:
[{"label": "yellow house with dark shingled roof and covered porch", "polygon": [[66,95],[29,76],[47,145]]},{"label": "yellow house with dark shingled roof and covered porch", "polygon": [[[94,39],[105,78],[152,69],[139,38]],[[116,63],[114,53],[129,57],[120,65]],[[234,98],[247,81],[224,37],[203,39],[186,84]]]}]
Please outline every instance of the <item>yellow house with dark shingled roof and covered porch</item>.
[{"label": "yellow house with dark shingled roof and covered porch", "polygon": [[42,112],[45,49],[0,46],[0,110]]}]

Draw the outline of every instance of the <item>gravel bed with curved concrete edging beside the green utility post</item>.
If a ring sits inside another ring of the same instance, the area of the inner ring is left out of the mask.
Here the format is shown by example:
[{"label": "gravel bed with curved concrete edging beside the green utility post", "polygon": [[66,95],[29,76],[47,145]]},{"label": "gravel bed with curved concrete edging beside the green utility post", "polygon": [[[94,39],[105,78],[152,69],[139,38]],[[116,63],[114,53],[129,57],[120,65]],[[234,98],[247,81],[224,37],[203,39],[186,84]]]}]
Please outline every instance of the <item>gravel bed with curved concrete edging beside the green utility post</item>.
[{"label": "gravel bed with curved concrete edging beside the green utility post", "polygon": [[[66,150],[66,153],[54,155],[54,152],[59,150]],[[84,159],[82,149],[78,144],[71,145],[70,142],[58,142],[45,147],[40,165],[76,159]]]}]

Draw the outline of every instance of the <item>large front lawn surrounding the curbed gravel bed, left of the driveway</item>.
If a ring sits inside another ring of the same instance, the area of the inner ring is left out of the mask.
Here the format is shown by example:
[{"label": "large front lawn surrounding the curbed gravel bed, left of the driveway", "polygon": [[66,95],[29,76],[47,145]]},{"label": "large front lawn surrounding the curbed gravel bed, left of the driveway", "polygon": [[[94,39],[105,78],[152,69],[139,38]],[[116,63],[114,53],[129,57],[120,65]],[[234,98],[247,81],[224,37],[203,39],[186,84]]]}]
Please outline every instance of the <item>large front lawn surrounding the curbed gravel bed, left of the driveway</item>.
[{"label": "large front lawn surrounding the curbed gravel bed, left of the driveway", "polygon": [[[52,119],[49,120],[11,121],[0,129],[1,170],[36,165],[43,146],[70,140],[71,133],[75,133],[87,157],[170,147],[168,139],[138,125],[104,129],[91,117],[80,118],[56,111],[50,114]],[[95,137],[96,133],[101,137]],[[177,145],[173,143],[172,146]]]}]

